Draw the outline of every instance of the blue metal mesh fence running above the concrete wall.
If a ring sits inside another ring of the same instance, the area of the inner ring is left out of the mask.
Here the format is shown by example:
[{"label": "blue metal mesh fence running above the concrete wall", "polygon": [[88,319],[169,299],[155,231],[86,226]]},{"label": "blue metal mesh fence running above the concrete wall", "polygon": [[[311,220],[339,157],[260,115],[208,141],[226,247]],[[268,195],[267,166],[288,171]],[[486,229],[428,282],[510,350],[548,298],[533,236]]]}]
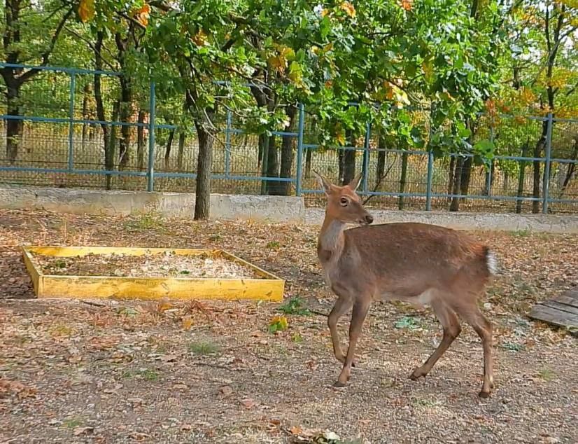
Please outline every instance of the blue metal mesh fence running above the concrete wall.
[{"label": "blue metal mesh fence running above the concrete wall", "polygon": [[[14,106],[8,110],[6,100],[0,102],[1,184],[195,190],[199,147],[194,128],[171,120],[179,105],[157,103],[155,83],[134,92],[134,109],[127,111],[118,99],[120,73],[6,63],[0,68],[39,70],[22,86],[17,113]],[[94,103],[97,79],[100,116]],[[0,82],[0,87],[6,85]],[[480,115],[472,141],[488,139],[500,155],[475,165],[472,154],[435,158],[431,151],[388,146],[370,125],[355,144],[323,148],[316,144],[314,119],[306,111],[299,105],[293,125],[269,138],[291,147],[286,177],[280,177],[279,159],[272,174],[263,174],[260,137],[239,129],[232,113],[218,116],[222,131],[213,145],[213,191],[265,193],[264,184],[288,183],[290,193],[316,204],[321,196],[311,170],[337,182],[349,162],[350,172],[353,165],[363,172],[360,195],[381,207],[578,212],[578,120]],[[123,112],[128,118],[120,118]],[[21,127],[9,148],[14,122]]]}]

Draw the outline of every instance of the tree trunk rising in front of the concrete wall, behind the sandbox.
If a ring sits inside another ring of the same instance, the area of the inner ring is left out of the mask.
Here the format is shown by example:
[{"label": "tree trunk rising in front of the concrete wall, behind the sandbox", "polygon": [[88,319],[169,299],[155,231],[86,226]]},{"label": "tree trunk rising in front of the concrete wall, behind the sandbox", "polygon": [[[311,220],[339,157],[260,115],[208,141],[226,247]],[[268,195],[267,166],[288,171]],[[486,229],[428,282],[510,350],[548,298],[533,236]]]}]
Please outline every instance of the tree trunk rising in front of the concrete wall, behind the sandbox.
[{"label": "tree trunk rising in front of the concrete wall, behind the sandbox", "polygon": [[[213,111],[206,110],[212,120]],[[202,122],[195,121],[199,139],[197,158],[197,187],[195,189],[195,220],[208,219],[211,209],[211,171],[213,169],[213,134]]]}]

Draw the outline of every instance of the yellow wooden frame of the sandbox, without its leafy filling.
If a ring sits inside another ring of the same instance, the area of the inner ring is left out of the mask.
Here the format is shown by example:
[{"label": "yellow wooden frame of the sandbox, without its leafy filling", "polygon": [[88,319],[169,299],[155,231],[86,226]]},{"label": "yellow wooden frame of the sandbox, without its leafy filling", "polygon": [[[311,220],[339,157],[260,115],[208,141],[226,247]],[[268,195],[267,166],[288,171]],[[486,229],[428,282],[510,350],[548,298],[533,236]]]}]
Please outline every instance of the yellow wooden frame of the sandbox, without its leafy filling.
[{"label": "yellow wooden frame of the sandbox, without its leafy filling", "polygon": [[[186,277],[114,277],[44,275],[32,261],[34,254],[71,257],[86,254],[142,256],[170,251],[180,255],[208,253],[251,268],[262,279],[211,279]],[[132,247],[22,247],[24,263],[38,298],[138,298],[138,299],[258,299],[283,300],[285,281],[224,250]]]}]

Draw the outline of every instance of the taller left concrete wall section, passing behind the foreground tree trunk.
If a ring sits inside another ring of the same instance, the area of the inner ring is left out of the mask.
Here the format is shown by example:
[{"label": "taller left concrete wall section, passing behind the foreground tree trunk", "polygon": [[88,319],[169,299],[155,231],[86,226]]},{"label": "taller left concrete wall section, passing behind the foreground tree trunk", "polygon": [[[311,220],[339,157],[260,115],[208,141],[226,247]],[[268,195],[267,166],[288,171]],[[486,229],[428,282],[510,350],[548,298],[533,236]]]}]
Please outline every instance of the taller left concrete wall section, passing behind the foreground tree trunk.
[{"label": "taller left concrete wall section, passing behind the foreground tree trunk", "polygon": [[[105,191],[73,188],[0,188],[0,208],[48,209],[71,214],[129,214],[155,212],[192,218],[195,194]],[[304,221],[302,197],[211,195],[211,218],[271,222]]]}]

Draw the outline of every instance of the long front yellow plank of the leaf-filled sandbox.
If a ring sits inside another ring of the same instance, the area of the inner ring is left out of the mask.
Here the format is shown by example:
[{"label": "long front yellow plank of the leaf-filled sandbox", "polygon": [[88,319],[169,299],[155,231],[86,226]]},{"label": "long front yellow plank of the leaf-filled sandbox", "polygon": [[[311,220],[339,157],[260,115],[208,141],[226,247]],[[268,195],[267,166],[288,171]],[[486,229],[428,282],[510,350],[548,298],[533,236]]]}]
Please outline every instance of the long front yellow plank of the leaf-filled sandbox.
[{"label": "long front yellow plank of the leaf-filled sandbox", "polygon": [[45,298],[282,300],[285,283],[269,279],[45,276]]}]

